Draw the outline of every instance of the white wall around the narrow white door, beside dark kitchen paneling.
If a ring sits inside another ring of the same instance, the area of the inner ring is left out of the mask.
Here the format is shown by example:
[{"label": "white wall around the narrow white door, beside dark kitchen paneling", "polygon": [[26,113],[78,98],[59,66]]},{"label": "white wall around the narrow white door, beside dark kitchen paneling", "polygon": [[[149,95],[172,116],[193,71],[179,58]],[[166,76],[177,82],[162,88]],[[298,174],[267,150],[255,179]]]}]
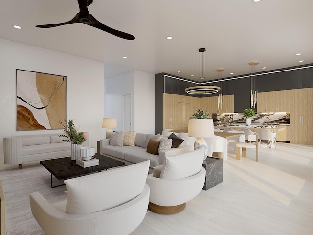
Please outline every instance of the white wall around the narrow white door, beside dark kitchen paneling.
[{"label": "white wall around the narrow white door, beside dark kitchen paneling", "polygon": [[130,71],[105,79],[104,118],[117,118],[117,128],[123,130],[123,95],[132,96],[132,130],[155,134],[155,75]]}]

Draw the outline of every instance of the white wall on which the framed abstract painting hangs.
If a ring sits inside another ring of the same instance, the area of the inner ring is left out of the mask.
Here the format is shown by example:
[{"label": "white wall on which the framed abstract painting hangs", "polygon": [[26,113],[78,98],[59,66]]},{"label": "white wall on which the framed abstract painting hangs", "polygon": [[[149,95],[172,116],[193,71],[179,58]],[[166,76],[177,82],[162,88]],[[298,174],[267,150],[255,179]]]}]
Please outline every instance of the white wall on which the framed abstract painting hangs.
[{"label": "white wall on which the framed abstract painting hangs", "polygon": [[103,139],[103,63],[0,39],[0,158],[5,136],[62,131],[16,131],[16,69],[67,76],[67,120],[90,133],[91,146]]}]

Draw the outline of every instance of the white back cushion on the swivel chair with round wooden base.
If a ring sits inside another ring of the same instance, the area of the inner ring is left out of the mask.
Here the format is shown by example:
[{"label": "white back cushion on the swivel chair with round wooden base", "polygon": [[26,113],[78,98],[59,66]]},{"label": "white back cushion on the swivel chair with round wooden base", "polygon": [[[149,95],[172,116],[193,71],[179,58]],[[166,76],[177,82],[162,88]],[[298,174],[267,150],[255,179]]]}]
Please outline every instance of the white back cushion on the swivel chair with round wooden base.
[{"label": "white back cushion on the swivel chair with round wooden base", "polygon": [[197,174],[203,163],[203,149],[166,157],[160,178],[181,179]]}]

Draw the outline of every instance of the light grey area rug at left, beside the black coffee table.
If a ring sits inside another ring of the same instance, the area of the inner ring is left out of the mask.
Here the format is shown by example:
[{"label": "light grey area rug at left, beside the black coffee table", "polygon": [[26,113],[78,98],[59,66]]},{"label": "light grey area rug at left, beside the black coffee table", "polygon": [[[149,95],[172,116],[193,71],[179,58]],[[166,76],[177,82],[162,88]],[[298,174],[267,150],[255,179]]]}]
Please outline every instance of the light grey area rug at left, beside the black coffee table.
[{"label": "light grey area rug at left, beside the black coffee table", "polygon": [[50,173],[40,164],[0,171],[6,200],[7,235],[45,235],[34,219],[29,194],[39,191],[50,203],[66,199],[66,186],[50,187]]}]

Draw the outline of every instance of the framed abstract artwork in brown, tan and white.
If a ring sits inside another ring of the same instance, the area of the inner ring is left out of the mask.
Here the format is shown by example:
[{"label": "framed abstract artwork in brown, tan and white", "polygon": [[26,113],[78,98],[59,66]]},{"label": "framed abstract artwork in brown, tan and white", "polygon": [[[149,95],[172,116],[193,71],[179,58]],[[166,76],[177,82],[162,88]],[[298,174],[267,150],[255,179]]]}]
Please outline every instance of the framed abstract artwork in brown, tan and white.
[{"label": "framed abstract artwork in brown, tan and white", "polygon": [[67,77],[16,70],[16,130],[63,129]]}]

